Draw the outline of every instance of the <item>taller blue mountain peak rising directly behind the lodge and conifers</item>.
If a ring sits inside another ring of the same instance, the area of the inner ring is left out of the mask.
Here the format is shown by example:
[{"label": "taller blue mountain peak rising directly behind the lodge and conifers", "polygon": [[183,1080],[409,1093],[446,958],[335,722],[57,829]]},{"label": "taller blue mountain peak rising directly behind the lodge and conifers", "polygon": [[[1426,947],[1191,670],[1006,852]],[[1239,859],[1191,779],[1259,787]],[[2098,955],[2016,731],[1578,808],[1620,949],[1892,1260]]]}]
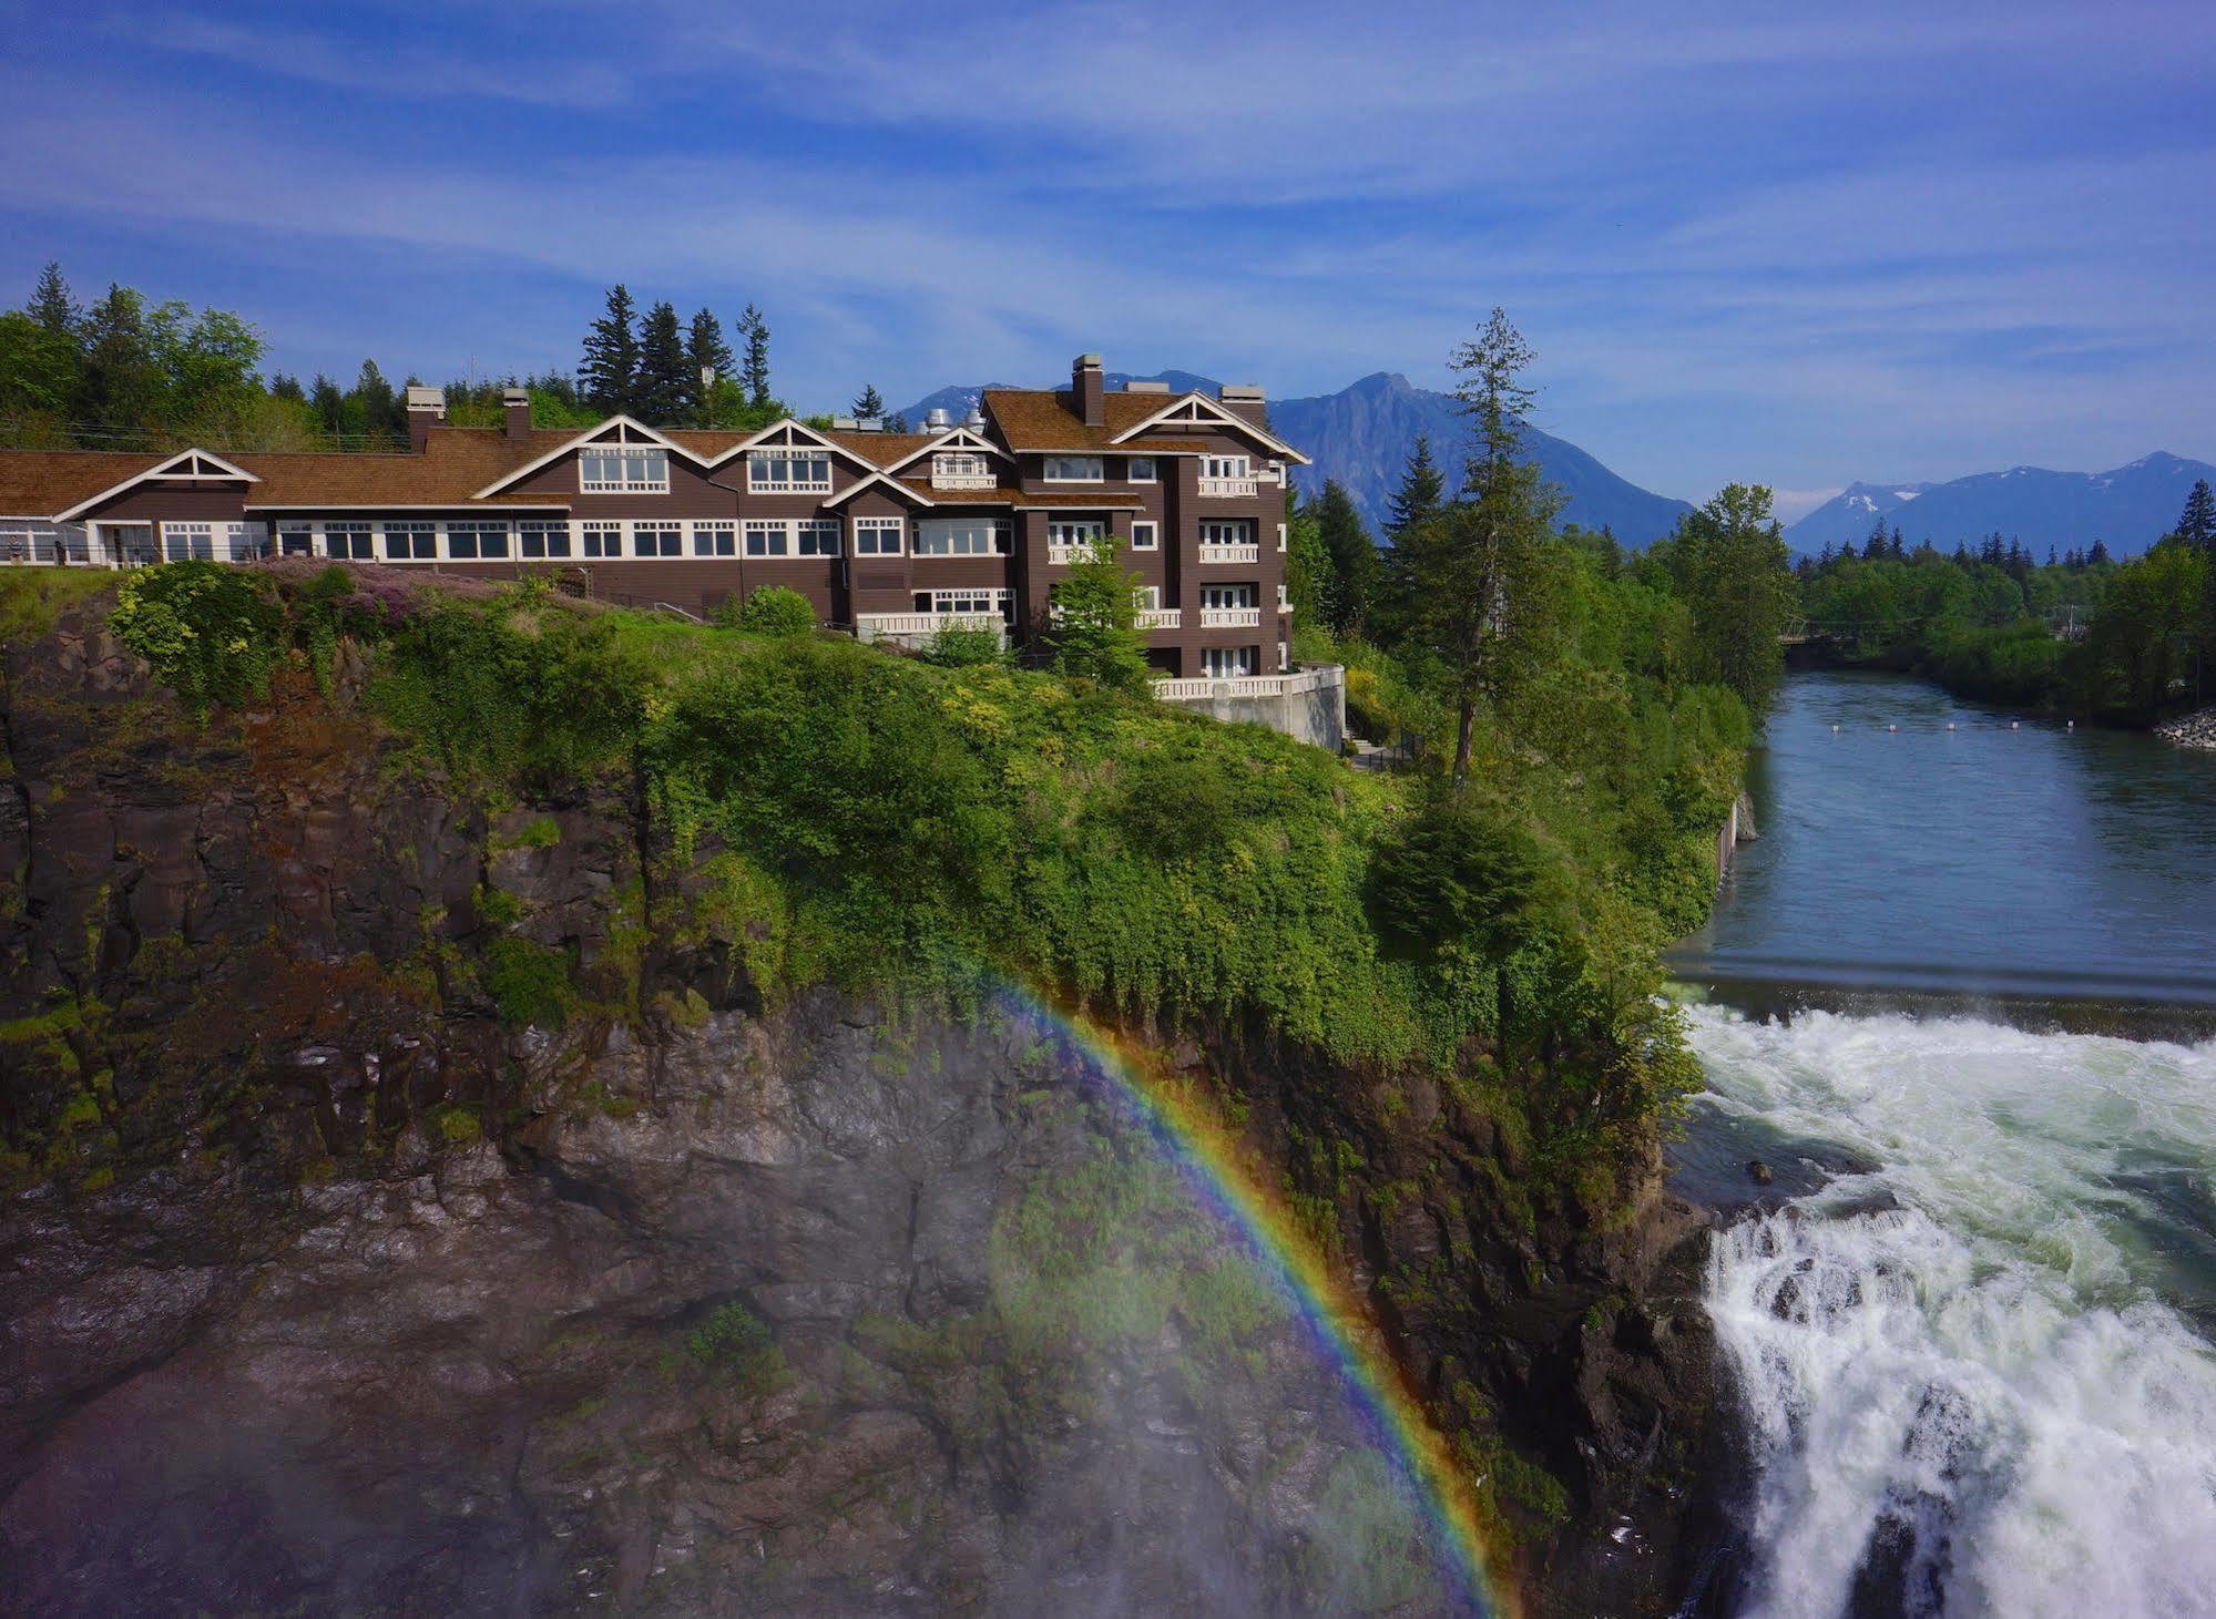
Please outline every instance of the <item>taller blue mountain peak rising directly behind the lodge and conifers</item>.
[{"label": "taller blue mountain peak rising directly behind the lodge and conifers", "polygon": [[[1221,388],[1212,377],[1181,370],[1155,372],[1152,377],[1108,372],[1110,388],[1121,388],[1128,381],[1168,383],[1177,394],[1194,390],[1214,394]],[[975,408],[979,392],[984,390],[942,388],[926,394],[909,405],[909,425],[920,427],[933,408],[946,410],[960,421]],[[1292,478],[1301,494],[1312,496],[1323,489],[1325,478],[1338,478],[1354,496],[1354,505],[1361,507],[1363,520],[1378,534],[1385,525],[1385,501],[1401,487],[1401,472],[1416,452],[1416,434],[1432,434],[1432,454],[1447,470],[1449,483],[1460,470],[1463,450],[1469,443],[1469,423],[1454,399],[1416,388],[1398,372],[1374,372],[1336,394],[1276,399],[1270,403],[1270,427],[1316,463],[1294,467]],[[1669,534],[1680,512],[1691,512],[1684,501],[1671,501],[1618,478],[1573,443],[1536,427],[1525,427],[1525,443],[1540,472],[1567,496],[1560,523],[1580,523],[1589,529],[1609,527],[1624,545],[1646,545]]]}]

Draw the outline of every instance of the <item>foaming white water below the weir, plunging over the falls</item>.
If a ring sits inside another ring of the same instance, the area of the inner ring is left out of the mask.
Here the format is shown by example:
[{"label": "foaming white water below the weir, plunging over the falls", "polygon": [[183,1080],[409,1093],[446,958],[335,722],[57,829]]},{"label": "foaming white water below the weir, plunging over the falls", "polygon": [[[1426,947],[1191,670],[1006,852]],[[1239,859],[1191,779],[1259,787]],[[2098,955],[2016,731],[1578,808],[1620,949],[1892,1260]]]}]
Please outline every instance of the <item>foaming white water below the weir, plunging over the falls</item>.
[{"label": "foaming white water below the weir, plunging over the falls", "polygon": [[1722,1010],[1693,1043],[1779,1185],[1795,1143],[1848,1165],[1711,1251],[1742,1610],[2216,1612],[2216,1043]]}]

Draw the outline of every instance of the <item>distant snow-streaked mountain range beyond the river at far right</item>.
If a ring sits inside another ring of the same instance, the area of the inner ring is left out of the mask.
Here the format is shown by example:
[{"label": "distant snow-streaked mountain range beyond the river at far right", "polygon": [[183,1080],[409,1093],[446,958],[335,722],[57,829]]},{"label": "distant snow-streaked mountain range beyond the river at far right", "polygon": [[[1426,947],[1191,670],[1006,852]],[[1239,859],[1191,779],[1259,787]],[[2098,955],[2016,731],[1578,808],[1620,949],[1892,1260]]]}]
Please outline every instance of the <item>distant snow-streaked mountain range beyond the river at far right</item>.
[{"label": "distant snow-streaked mountain range beyond the river at far right", "polygon": [[2216,483],[2216,467],[2156,450],[2110,472],[2010,467],[1952,483],[1857,483],[1788,527],[1786,543],[1810,554],[1859,547],[1884,516],[1910,545],[1941,551],[1999,532],[2034,551],[2107,540],[2116,556],[2136,556],[2169,534],[2196,478]]}]

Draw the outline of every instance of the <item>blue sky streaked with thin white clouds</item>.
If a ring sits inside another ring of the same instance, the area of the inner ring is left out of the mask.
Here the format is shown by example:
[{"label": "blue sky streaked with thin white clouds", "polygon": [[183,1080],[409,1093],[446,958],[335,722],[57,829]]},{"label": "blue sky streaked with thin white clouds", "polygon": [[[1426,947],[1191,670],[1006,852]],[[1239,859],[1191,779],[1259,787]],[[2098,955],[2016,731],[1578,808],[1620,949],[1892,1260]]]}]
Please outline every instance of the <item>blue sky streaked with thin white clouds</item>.
[{"label": "blue sky streaked with thin white clouds", "polygon": [[[519,20],[527,18],[527,27]],[[1445,383],[1689,498],[2216,458],[2216,7],[0,4],[0,299],[270,363],[576,363],[749,299],[778,392]]]}]

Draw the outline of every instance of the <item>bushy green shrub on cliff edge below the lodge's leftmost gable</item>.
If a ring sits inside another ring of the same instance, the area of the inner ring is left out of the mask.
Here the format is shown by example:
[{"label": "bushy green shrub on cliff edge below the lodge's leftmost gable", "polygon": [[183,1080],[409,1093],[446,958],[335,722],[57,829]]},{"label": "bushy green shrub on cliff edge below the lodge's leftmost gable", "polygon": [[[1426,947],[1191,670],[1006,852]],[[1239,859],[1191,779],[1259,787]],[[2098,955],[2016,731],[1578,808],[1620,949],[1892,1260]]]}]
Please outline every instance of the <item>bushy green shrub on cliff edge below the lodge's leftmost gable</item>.
[{"label": "bushy green shrub on cliff edge below the lodge's leftmost gable", "polygon": [[109,627],[153,664],[195,720],[206,720],[215,704],[266,698],[286,649],[286,613],[266,580],[226,563],[166,563],[129,574]]}]

